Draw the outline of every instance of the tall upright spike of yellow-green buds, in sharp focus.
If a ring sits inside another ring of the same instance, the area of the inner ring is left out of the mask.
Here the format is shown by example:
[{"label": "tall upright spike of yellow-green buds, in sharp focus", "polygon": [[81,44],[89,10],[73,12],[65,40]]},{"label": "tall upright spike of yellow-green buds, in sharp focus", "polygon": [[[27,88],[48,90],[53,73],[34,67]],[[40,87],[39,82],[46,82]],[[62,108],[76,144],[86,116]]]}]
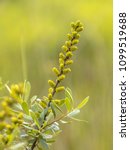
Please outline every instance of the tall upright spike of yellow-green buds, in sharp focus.
[{"label": "tall upright spike of yellow-green buds, in sharp focus", "polygon": [[53,67],[52,69],[57,76],[56,81],[48,80],[50,85],[48,90],[49,102],[53,99],[55,93],[64,91],[65,89],[64,86],[59,87],[59,83],[65,79],[67,73],[71,72],[71,69],[68,66],[73,63],[73,52],[78,49],[76,44],[79,42],[79,32],[82,30],[83,25],[80,21],[71,23],[71,33],[67,34],[68,40],[62,46],[62,51],[59,54],[59,67]]}]

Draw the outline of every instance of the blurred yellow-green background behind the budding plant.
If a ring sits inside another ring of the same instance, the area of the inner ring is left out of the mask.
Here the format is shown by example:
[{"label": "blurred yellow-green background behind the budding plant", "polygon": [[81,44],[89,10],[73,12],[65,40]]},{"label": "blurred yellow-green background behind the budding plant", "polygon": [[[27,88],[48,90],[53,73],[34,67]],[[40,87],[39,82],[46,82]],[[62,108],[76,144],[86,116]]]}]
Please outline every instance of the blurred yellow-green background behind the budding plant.
[{"label": "blurred yellow-green background behind the budding plant", "polygon": [[85,30],[65,84],[76,103],[90,96],[79,116],[88,123],[63,126],[51,149],[112,150],[111,0],[0,0],[0,76],[10,83],[27,76],[32,95],[47,95],[51,68],[76,20]]}]

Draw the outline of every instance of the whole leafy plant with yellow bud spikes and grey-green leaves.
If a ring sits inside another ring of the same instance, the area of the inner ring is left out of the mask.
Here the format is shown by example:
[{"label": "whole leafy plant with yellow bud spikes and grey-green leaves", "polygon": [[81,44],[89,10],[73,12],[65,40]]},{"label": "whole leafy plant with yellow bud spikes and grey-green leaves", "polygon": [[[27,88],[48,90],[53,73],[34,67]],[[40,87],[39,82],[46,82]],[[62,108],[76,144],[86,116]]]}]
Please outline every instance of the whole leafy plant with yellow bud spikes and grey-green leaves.
[{"label": "whole leafy plant with yellow bud spikes and grey-green leaves", "polygon": [[[7,90],[7,96],[0,97],[0,150],[46,150],[55,142],[62,131],[61,124],[71,120],[82,121],[75,116],[88,102],[86,97],[74,107],[72,92],[65,88],[62,81],[71,72],[72,56],[77,50],[80,32],[83,25],[80,21],[71,23],[71,33],[59,53],[59,66],[53,67],[55,81],[48,80],[48,95],[38,98],[29,97],[31,85],[28,81],[8,85],[0,80],[0,90]],[[56,94],[64,92],[62,99]]]}]

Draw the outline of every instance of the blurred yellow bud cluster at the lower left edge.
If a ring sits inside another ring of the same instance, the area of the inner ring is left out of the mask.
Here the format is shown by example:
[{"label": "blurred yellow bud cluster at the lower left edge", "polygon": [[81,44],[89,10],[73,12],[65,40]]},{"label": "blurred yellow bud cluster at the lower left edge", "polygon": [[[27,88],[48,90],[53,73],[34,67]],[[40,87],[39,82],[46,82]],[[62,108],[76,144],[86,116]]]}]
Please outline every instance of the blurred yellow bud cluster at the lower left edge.
[{"label": "blurred yellow bud cluster at the lower left edge", "polygon": [[[11,96],[12,94],[20,95],[22,92],[21,84],[20,86],[17,84],[11,85]],[[4,145],[8,144],[11,140],[15,128],[23,123],[23,113],[12,111],[12,106],[15,104],[17,104],[17,101],[13,97],[6,96],[0,100],[0,141]]]}]

